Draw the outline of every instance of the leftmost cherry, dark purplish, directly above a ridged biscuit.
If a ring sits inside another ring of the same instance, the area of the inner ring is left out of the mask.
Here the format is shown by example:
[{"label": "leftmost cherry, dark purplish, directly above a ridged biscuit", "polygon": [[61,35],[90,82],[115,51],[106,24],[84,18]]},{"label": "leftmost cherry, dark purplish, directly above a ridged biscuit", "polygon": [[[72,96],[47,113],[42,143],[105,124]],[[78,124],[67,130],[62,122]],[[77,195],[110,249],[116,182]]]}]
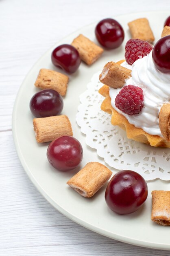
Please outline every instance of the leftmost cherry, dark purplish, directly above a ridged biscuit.
[{"label": "leftmost cherry, dark purplish, directly above a ridged biscuit", "polygon": [[35,117],[59,115],[63,110],[63,98],[52,89],[42,90],[31,98],[30,110]]}]

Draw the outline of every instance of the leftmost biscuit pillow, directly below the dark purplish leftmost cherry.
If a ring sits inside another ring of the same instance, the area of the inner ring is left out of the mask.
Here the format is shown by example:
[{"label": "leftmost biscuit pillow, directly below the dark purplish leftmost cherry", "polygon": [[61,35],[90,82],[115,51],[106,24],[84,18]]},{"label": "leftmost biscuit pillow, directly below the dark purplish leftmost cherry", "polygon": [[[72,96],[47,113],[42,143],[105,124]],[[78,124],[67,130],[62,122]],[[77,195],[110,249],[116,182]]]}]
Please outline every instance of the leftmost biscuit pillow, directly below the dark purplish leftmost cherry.
[{"label": "leftmost biscuit pillow, directly below the dark purplish leftmost cherry", "polygon": [[61,136],[73,136],[72,126],[67,116],[34,118],[33,126],[37,142],[52,141]]}]

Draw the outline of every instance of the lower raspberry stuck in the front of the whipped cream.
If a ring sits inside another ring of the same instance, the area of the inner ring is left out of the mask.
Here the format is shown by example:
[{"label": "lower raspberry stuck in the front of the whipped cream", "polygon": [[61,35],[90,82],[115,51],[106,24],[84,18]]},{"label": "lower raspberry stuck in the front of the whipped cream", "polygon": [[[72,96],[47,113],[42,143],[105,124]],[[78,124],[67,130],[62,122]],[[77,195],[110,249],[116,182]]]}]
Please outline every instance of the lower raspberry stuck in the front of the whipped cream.
[{"label": "lower raspberry stuck in the front of the whipped cream", "polygon": [[115,99],[115,106],[128,115],[139,114],[144,106],[143,90],[135,85],[125,85]]}]

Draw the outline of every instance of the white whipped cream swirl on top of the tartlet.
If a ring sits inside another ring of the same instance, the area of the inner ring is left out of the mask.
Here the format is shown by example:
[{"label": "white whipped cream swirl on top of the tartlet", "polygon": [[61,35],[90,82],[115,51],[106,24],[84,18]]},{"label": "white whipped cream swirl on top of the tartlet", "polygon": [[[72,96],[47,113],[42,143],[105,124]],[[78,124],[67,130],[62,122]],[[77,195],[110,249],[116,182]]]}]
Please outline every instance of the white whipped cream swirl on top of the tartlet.
[{"label": "white whipped cream swirl on top of the tartlet", "polygon": [[137,85],[144,92],[144,107],[137,115],[126,115],[115,106],[115,98],[120,89],[109,89],[111,106],[124,115],[130,124],[137,128],[142,128],[151,135],[161,135],[159,128],[159,111],[163,103],[170,101],[170,74],[165,74],[156,69],[152,51],[143,58],[139,58],[132,66],[126,62],[121,64],[123,67],[132,70],[131,78],[126,80],[125,85]]}]

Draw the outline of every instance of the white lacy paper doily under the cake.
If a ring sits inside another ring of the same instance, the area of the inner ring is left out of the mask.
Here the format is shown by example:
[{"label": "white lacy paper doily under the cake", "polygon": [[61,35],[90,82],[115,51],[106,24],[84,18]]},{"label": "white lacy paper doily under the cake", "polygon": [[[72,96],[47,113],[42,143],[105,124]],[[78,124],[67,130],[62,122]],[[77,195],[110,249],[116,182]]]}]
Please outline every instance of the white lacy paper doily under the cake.
[{"label": "white lacy paper doily under the cake", "polygon": [[111,115],[100,110],[104,99],[98,90],[102,87],[94,74],[81,94],[76,121],[86,134],[86,144],[97,150],[109,166],[140,173],[145,180],[170,180],[170,148],[155,148],[132,139],[126,132],[111,124]]}]

